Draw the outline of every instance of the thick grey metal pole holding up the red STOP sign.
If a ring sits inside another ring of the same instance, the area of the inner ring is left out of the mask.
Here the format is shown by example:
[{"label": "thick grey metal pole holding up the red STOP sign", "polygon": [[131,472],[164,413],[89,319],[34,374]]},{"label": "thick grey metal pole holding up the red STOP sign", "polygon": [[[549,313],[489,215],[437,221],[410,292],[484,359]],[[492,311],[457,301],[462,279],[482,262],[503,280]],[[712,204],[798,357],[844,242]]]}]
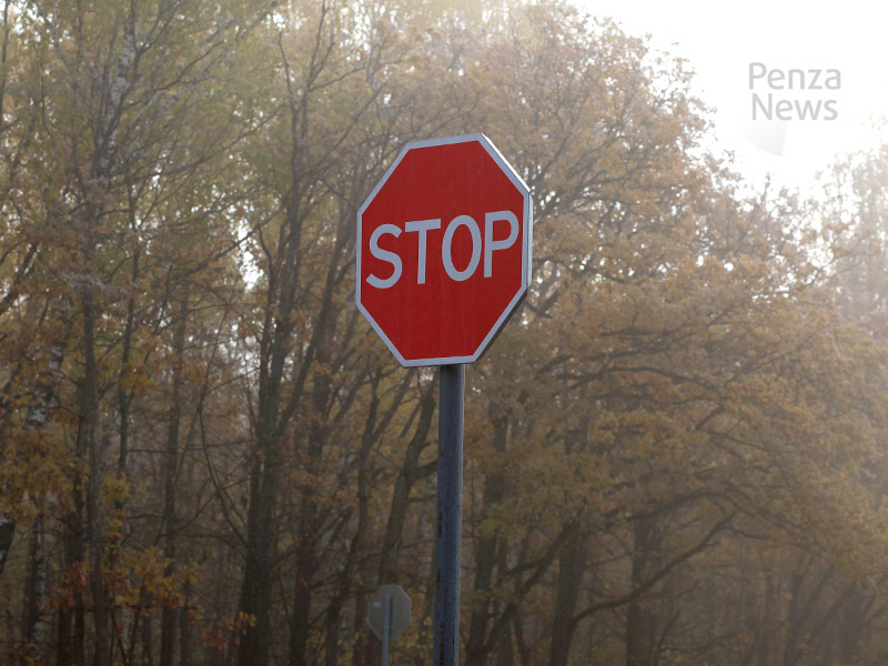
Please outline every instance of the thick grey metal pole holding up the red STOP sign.
[{"label": "thick grey metal pole holding up the red STOP sign", "polygon": [[465,365],[441,366],[435,535],[435,666],[460,659],[460,539],[463,531]]}]

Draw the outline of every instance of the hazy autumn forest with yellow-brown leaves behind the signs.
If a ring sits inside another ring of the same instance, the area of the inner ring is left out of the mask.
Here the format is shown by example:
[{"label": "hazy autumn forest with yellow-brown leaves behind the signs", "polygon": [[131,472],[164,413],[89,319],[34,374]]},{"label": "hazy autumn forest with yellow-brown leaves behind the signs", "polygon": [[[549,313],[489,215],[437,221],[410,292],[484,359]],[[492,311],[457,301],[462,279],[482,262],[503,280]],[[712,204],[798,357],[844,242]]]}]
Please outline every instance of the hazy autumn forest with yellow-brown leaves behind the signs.
[{"label": "hazy autumn forest with yellow-brown leaves behind the signs", "polygon": [[686,63],[558,0],[4,0],[0,662],[431,662],[436,373],[353,300],[484,132],[531,293],[466,373],[467,666],[888,662],[888,143],[749,194]]}]

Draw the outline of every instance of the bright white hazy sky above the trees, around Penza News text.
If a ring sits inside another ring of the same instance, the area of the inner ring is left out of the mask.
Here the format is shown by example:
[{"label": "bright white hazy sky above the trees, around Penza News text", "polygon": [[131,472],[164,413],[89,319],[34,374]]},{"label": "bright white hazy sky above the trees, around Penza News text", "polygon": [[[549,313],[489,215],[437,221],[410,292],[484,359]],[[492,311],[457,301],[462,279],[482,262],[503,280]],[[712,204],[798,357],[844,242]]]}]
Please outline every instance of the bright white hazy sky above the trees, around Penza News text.
[{"label": "bright white hazy sky above the trees, around Penza News text", "polygon": [[[655,48],[690,62],[699,95],[717,109],[717,148],[733,151],[736,169],[749,179],[770,173],[776,182],[804,190],[833,155],[874,140],[870,118],[888,118],[888,3],[581,1],[591,13],[615,18],[632,34],[649,33]],[[767,73],[750,89],[754,62]],[[790,69],[804,72],[804,89],[798,72],[789,89]],[[824,87],[828,75],[831,88]],[[800,120],[806,101],[808,115]],[[780,102],[790,120],[778,120]]]}]

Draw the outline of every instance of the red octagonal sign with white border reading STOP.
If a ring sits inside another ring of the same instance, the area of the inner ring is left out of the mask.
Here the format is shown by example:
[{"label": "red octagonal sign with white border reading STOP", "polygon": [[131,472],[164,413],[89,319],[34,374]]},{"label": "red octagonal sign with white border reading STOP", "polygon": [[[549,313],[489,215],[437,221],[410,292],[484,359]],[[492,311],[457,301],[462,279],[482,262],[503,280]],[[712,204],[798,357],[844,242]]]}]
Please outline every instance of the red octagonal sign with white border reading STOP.
[{"label": "red octagonal sign with white border reading STOP", "polygon": [[402,365],[484,353],[527,291],[531,205],[483,134],[401,151],[357,212],[355,300]]}]

